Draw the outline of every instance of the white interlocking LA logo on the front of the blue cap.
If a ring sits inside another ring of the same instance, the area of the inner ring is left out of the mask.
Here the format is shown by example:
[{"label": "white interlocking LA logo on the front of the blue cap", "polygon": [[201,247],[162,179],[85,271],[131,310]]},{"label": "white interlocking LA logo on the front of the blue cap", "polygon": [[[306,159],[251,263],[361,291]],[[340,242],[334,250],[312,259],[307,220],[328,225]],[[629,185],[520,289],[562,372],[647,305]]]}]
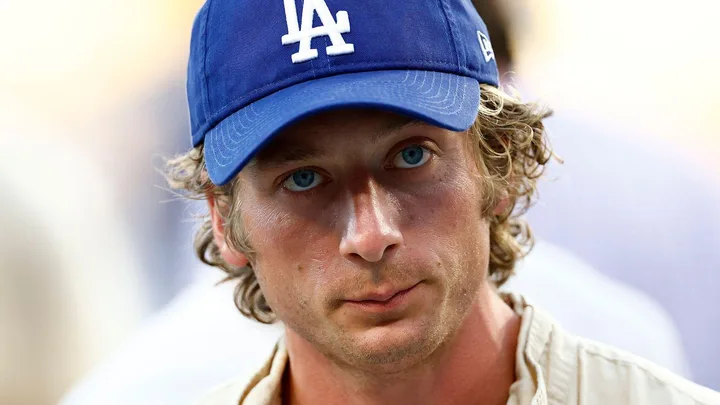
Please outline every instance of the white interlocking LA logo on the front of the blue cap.
[{"label": "white interlocking LA logo on the front of the blue cap", "polygon": [[[342,34],[350,32],[350,19],[347,11],[337,12],[337,21],[333,19],[325,0],[303,0],[302,22],[298,24],[298,15],[295,0],[285,2],[285,19],[288,24],[288,33],[283,35],[282,44],[291,45],[300,43],[300,50],[292,55],[293,63],[302,63],[318,57],[317,49],[311,48],[311,41],[315,37],[327,36],[332,45],[325,48],[328,56],[345,55],[355,52],[353,44],[345,43]],[[313,27],[313,18],[317,13],[322,23]]]}]

